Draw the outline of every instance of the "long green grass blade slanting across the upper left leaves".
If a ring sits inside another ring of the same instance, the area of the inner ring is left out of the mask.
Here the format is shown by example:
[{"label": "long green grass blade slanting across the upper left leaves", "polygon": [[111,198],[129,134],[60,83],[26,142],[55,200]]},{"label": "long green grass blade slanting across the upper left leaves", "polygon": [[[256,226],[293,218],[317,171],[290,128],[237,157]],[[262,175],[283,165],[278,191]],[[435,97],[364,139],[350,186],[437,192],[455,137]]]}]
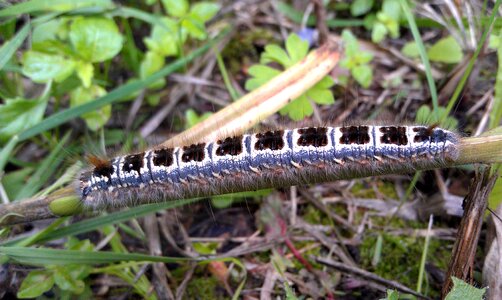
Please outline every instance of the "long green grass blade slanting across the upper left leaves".
[{"label": "long green grass blade slanting across the upper left leaves", "polygon": [[19,139],[21,141],[26,140],[32,136],[38,135],[46,130],[52,129],[60,124],[63,124],[71,119],[74,119],[84,113],[94,111],[96,109],[99,109],[103,106],[118,102],[125,97],[129,96],[132,93],[135,93],[137,91],[140,91],[146,87],[148,87],[150,84],[156,82],[157,80],[166,77],[167,75],[173,73],[174,71],[182,68],[185,66],[188,62],[192,61],[196,57],[199,57],[202,55],[204,52],[206,52],[213,44],[215,44],[217,41],[219,41],[223,36],[225,36],[229,30],[224,30],[221,34],[218,35],[218,37],[212,39],[211,41],[207,42],[205,45],[203,45],[200,48],[197,48],[196,50],[192,51],[189,53],[187,56],[177,59],[171,64],[165,66],[164,68],[160,69],[158,72],[146,77],[145,79],[137,80],[137,81],[132,81],[127,84],[124,84],[108,94],[104,95],[103,97],[99,97],[94,101],[85,103],[83,105],[79,105],[76,107],[72,107],[63,111],[60,111],[58,113],[55,113],[54,115],[46,118],[42,122],[38,123],[37,125],[28,128],[27,130],[23,131],[19,135]]}]

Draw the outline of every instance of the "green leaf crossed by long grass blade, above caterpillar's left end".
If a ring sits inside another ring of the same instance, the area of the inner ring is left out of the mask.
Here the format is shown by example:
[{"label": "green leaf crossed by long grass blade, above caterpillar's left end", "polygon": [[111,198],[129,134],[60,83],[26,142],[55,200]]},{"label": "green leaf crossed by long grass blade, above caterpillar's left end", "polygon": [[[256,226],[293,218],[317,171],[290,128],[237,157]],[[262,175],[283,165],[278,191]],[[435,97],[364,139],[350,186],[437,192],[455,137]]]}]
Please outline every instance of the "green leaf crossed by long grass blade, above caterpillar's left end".
[{"label": "green leaf crossed by long grass blade, above caterpillar's left end", "polygon": [[[78,87],[70,95],[70,106],[79,106],[104,95],[106,95],[106,90],[99,85],[92,85],[89,88]],[[87,112],[81,117],[85,120],[89,129],[96,131],[108,122],[110,116],[111,106],[106,105],[98,110]]]}]

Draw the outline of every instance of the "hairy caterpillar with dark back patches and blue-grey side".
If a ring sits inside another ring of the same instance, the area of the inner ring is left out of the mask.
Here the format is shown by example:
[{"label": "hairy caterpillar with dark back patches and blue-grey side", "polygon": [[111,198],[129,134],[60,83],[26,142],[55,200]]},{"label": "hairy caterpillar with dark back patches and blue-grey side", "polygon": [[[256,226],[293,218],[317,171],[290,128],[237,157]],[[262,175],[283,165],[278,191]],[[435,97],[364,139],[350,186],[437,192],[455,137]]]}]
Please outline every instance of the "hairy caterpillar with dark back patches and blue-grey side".
[{"label": "hairy caterpillar with dark back patches and blue-grey side", "polygon": [[303,127],[91,159],[78,194],[87,208],[117,207],[270,187],[437,168],[459,138],[435,126]]}]

